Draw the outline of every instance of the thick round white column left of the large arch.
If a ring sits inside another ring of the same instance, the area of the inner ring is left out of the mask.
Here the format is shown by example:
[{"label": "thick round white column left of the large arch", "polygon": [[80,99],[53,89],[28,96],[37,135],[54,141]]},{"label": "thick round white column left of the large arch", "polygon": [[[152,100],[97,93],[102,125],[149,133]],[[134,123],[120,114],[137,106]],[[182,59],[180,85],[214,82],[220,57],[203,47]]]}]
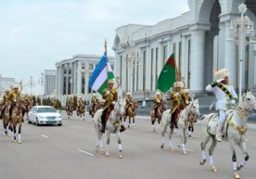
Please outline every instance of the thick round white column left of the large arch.
[{"label": "thick round white column left of the large arch", "polygon": [[191,36],[191,85],[193,91],[204,91],[205,31],[196,30]]}]

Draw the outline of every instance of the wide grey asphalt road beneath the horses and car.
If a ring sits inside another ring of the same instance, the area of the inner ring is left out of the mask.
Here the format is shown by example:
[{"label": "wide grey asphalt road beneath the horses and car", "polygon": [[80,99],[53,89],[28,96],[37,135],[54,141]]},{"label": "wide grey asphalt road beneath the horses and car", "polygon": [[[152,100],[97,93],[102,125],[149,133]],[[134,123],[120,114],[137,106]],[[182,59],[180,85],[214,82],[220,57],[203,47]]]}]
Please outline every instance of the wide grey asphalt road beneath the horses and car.
[{"label": "wide grey asphalt road beneath the horses and car", "polygon": [[[150,131],[147,116],[137,116],[135,129],[122,133],[123,158],[118,157],[115,135],[110,138],[110,157],[96,153],[96,132],[91,118],[66,118],[63,125],[36,126],[24,122],[22,144],[12,143],[4,136],[0,124],[1,179],[230,179],[233,178],[232,160],[228,143],[222,142],[215,150],[218,173],[211,173],[208,163],[198,164],[201,142],[199,123],[186,147],[188,155],[175,147],[160,148],[159,133]],[[247,147],[250,161],[240,171],[242,178],[254,179],[256,166],[256,126],[250,124]],[[166,146],[168,144],[167,134]],[[105,137],[104,137],[105,140]],[[178,134],[173,145],[180,144]],[[237,149],[237,159],[243,159]]]}]

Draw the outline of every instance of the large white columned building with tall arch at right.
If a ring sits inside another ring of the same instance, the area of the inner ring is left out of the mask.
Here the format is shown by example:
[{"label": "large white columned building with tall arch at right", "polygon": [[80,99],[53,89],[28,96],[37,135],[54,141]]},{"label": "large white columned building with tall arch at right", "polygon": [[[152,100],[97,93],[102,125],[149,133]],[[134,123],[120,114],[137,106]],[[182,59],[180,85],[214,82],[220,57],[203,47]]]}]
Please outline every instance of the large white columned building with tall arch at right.
[{"label": "large white columned building with tall arch at right", "polygon": [[[247,5],[246,16],[256,21],[255,0],[188,0],[190,11],[156,25],[128,24],[116,30],[114,45],[122,91],[153,96],[160,70],[172,53],[186,87],[204,93],[213,70],[231,71],[230,83],[238,88],[239,50],[230,41],[231,19],[241,17],[238,6]],[[250,24],[251,25],[251,24]],[[251,25],[253,26],[253,24]],[[254,25],[255,29],[255,25]],[[256,46],[243,53],[243,89],[256,90]]]}]

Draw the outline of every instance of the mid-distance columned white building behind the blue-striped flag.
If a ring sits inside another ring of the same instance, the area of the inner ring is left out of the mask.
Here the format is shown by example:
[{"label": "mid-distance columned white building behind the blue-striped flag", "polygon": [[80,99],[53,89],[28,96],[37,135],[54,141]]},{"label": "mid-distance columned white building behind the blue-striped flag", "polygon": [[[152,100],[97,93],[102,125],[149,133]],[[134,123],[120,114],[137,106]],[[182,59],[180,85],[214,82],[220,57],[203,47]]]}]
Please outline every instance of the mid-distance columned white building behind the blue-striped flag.
[{"label": "mid-distance columned white building behind the blue-striped flag", "polygon": [[[89,79],[95,70],[101,56],[76,55],[56,63],[57,67],[57,94],[88,94],[90,92]],[[108,57],[109,63],[115,70],[115,58]]]}]

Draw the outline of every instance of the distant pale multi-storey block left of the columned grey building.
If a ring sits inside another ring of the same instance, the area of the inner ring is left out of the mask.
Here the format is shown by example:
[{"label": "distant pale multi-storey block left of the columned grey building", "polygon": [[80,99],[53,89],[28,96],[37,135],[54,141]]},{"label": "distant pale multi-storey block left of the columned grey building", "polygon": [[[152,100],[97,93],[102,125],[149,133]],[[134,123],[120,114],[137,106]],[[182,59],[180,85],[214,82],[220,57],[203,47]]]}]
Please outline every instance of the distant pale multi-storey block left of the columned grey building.
[{"label": "distant pale multi-storey block left of the columned grey building", "polygon": [[57,70],[45,70],[45,96],[54,95],[57,91]]}]

